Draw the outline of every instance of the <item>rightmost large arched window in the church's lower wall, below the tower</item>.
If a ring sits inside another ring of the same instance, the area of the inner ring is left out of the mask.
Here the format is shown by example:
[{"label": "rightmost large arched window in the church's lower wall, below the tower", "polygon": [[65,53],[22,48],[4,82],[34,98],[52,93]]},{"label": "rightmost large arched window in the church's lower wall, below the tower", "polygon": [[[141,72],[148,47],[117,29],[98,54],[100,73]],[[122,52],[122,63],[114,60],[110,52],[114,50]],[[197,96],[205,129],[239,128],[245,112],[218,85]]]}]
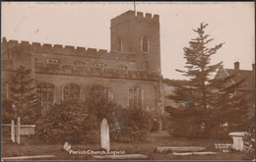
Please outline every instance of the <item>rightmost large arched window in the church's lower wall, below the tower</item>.
[{"label": "rightmost large arched window in the church's lower wall, below the tower", "polygon": [[128,89],[128,106],[130,108],[144,108],[144,90],[138,86]]}]

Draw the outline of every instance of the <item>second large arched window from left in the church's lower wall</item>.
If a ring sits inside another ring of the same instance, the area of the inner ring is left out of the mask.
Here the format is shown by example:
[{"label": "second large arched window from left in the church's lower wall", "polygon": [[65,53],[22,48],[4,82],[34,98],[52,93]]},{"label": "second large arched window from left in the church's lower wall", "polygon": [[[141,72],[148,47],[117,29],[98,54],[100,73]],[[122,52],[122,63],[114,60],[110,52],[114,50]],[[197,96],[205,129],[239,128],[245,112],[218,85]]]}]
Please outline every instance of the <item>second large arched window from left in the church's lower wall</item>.
[{"label": "second large arched window from left in the church's lower wall", "polygon": [[63,87],[63,99],[74,100],[80,98],[80,86],[75,83],[67,84]]}]

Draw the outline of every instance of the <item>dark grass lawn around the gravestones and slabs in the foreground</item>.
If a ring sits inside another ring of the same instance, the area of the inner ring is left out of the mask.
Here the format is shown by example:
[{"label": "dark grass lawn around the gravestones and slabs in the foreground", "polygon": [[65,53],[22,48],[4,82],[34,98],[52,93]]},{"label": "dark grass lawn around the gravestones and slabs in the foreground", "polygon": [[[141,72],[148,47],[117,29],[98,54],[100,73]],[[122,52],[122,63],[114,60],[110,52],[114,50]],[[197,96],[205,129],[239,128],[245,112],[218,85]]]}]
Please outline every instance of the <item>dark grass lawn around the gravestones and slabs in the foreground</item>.
[{"label": "dark grass lawn around the gravestones and slabs in the foreground", "polygon": [[[148,135],[143,142],[118,143],[110,142],[111,150],[125,150],[126,154],[140,153],[150,155],[154,160],[242,160],[243,154],[238,151],[223,153],[215,148],[215,143],[231,143],[231,139],[186,139],[173,138],[165,132]],[[174,156],[171,153],[158,153],[157,146],[204,146],[207,151],[220,152],[217,155]],[[36,137],[22,136],[21,144],[12,143],[9,136],[2,136],[2,157],[28,155],[55,155],[53,160],[93,160],[91,155],[74,155],[62,150],[63,143],[46,144]],[[100,143],[71,144],[73,150],[98,150]],[[47,160],[47,159],[44,159]]]}]

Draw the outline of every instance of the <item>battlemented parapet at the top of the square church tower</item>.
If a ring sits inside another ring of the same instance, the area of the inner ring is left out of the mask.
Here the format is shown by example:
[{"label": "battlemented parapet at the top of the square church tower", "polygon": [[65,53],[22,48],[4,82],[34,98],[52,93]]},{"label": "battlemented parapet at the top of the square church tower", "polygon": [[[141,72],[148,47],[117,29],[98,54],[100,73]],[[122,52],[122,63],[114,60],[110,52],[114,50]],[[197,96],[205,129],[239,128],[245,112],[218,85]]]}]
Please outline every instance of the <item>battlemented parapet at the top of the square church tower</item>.
[{"label": "battlemented parapet at the top of the square church tower", "polygon": [[127,20],[144,20],[151,23],[159,23],[160,22],[160,16],[159,15],[152,15],[150,13],[146,13],[144,16],[144,13],[137,12],[129,10],[113,19],[111,19],[111,26],[115,25],[116,23],[125,22]]}]

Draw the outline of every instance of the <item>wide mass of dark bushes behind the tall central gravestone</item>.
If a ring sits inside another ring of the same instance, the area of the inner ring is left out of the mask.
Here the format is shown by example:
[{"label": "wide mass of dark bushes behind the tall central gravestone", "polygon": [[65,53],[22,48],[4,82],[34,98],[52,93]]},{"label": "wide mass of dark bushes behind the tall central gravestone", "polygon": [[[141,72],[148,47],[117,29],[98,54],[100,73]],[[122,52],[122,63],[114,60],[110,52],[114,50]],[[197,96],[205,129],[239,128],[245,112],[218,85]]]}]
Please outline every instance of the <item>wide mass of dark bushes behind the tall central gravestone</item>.
[{"label": "wide mass of dark bushes behind the tall central gravestone", "polygon": [[37,121],[36,135],[46,142],[99,142],[100,124],[106,119],[112,141],[134,142],[152,129],[148,112],[125,109],[103,95],[68,101],[46,110]]}]

